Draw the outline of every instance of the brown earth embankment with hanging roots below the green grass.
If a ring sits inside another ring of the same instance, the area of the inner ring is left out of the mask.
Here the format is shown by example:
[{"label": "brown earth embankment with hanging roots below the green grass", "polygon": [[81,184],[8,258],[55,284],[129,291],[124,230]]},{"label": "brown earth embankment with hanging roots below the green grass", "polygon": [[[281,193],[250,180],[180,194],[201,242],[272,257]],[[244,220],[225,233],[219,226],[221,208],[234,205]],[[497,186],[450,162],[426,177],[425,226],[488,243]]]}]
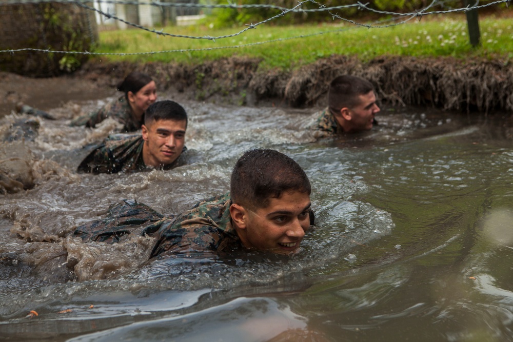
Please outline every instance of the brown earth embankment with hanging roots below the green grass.
[{"label": "brown earth embankment with hanging roots below the green grass", "polygon": [[196,66],[88,63],[75,77],[112,82],[113,86],[137,69],[152,75],[159,87],[174,89],[189,99],[309,107],[324,106],[331,79],[349,73],[369,79],[382,101],[391,105],[480,113],[513,111],[513,65],[509,61],[380,57],[362,63],[357,58],[332,56],[293,72],[262,72],[258,66],[258,59],[237,57]]}]

